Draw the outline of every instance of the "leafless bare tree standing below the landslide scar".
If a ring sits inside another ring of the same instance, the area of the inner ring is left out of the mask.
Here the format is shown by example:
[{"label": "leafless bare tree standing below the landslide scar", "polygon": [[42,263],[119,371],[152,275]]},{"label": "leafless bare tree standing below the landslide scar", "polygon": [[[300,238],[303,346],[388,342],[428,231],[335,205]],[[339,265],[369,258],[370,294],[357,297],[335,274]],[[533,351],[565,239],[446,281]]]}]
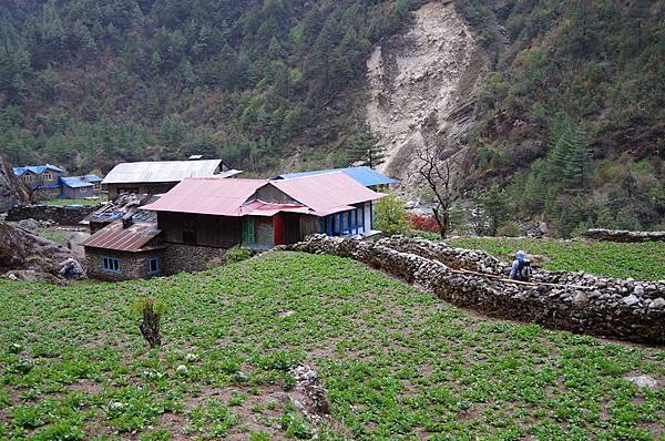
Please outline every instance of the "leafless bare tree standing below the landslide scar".
[{"label": "leafless bare tree standing below the landslide scar", "polygon": [[452,176],[456,162],[452,157],[441,160],[442,148],[419,148],[417,156],[420,161],[418,173],[424,178],[433,199],[432,213],[439,234],[446,238],[450,232],[450,212],[459,198]]}]

